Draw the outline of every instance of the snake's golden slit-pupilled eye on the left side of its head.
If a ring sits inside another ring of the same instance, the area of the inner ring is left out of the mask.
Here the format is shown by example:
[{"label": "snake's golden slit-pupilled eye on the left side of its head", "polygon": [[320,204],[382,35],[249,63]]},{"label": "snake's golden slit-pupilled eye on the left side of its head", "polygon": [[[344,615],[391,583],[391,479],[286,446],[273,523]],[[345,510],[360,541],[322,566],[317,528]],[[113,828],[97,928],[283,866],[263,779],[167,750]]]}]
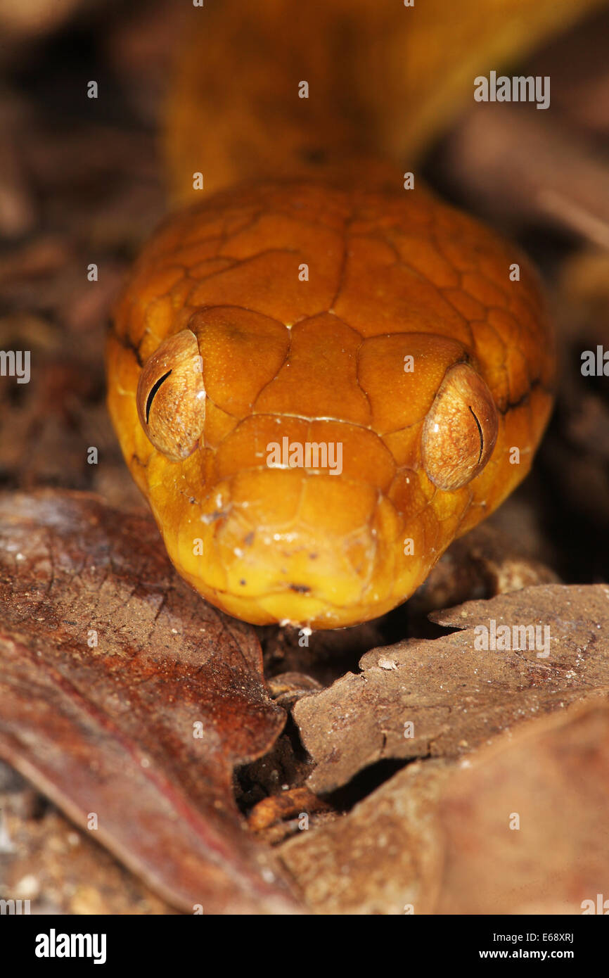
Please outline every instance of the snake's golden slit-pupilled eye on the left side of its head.
[{"label": "snake's golden slit-pupilled eye on the left side of its head", "polygon": [[203,430],[202,369],[195,333],[182,330],[160,344],[140,375],[140,422],[154,448],[173,462],[193,454]]}]

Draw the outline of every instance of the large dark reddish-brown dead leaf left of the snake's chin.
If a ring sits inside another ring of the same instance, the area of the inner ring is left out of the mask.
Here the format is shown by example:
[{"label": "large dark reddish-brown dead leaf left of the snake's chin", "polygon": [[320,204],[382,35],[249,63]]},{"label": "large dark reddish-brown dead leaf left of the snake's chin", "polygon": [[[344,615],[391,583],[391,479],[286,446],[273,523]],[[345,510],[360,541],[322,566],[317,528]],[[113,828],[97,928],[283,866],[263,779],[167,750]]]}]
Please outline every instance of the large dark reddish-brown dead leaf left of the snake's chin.
[{"label": "large dark reddish-brown dead leaf left of the snake's chin", "polygon": [[2,756],[173,906],[294,911],[232,791],[284,721],[253,631],[85,494],[3,497],[0,560]]}]

